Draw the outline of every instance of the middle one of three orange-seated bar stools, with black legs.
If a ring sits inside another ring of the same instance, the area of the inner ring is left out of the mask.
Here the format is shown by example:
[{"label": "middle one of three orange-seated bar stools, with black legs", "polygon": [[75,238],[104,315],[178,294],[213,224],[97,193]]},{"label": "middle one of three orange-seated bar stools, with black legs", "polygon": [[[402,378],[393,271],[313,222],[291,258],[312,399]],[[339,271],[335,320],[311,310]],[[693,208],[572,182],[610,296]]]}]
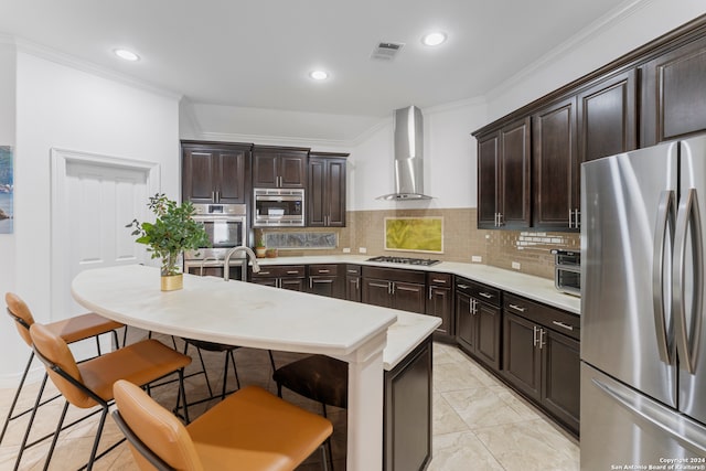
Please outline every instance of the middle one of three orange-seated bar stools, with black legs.
[{"label": "middle one of three orange-seated bar stools, with black legs", "polygon": [[[140,386],[146,386],[169,374],[178,373],[179,394],[186,404],[183,377],[184,367],[191,363],[191,357],[156,340],[143,340],[77,364],[66,342],[45,325],[35,322],[30,328],[30,334],[34,353],[44,363],[49,377],[66,399],[44,462],[44,470],[49,468],[69,404],[84,409],[95,406],[100,406],[103,409],[90,457],[86,464],[87,470],[93,468],[96,459],[118,445],[116,443],[100,456],[96,456],[108,407],[113,402],[113,385],[118,379],[128,379]],[[184,416],[189,421],[189,411],[185,408]]]}]

